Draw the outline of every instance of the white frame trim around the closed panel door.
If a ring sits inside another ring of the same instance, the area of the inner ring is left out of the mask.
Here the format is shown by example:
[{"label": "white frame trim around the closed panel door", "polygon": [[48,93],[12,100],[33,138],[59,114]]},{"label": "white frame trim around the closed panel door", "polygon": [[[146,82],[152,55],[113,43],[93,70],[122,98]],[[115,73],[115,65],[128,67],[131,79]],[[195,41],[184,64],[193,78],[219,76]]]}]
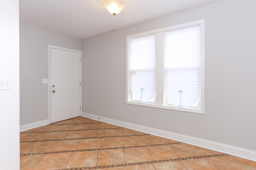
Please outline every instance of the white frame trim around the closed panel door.
[{"label": "white frame trim around the closed panel door", "polygon": [[48,45],[48,123],[51,124],[51,48],[80,53],[80,115],[82,115],[82,51]]}]

